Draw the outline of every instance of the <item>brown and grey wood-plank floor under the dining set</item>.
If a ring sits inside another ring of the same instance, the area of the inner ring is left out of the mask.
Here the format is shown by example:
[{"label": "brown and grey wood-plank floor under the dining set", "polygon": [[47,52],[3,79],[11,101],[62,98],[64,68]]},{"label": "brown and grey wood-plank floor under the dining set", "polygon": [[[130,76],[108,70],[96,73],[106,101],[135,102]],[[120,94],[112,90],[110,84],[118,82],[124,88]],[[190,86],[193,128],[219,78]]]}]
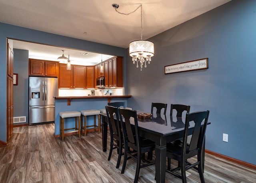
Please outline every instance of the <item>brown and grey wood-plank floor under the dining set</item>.
[{"label": "brown and grey wood-plank floor under the dining set", "polygon": [[[15,127],[10,143],[0,147],[0,183],[133,182],[136,161],[128,160],[121,175],[122,161],[116,169],[116,151],[110,161],[108,152],[109,147],[102,151],[101,133],[72,135],[61,141],[54,137],[54,123]],[[138,182],[156,182],[154,172],[154,165],[141,169]],[[200,182],[194,169],[186,174],[188,183]],[[206,154],[204,179],[206,183],[256,183],[256,171]],[[166,183],[180,182],[166,173]]]}]

